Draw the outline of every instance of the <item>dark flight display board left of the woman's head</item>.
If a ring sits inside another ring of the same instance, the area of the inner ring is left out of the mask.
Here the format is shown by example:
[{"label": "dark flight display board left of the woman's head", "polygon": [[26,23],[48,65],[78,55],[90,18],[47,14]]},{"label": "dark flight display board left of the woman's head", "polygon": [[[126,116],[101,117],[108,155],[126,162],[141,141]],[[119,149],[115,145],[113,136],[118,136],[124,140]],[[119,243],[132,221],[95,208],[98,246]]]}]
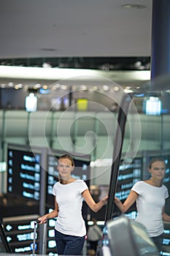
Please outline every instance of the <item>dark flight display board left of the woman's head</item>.
[{"label": "dark flight display board left of the woman's head", "polygon": [[39,200],[41,180],[41,154],[8,148],[7,192]]}]

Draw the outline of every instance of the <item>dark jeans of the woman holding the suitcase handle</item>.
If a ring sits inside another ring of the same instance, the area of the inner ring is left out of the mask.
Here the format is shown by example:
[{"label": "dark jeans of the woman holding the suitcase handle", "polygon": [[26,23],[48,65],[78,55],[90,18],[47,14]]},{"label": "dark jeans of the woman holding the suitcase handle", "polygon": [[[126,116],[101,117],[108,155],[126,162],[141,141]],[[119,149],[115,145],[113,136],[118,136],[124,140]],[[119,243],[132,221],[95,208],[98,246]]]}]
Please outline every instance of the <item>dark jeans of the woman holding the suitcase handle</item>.
[{"label": "dark jeans of the woman holding the suitcase handle", "polygon": [[85,236],[69,236],[55,230],[55,242],[58,255],[81,255]]}]

